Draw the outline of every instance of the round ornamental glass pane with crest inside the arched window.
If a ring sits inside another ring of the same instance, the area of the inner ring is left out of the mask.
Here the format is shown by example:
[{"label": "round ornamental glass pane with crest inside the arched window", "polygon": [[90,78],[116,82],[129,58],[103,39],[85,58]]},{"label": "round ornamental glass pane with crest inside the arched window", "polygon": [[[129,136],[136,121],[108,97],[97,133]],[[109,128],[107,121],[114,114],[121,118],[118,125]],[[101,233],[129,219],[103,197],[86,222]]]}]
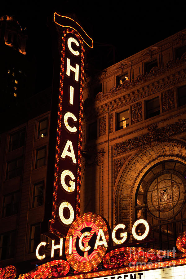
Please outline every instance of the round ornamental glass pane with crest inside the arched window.
[{"label": "round ornamental glass pane with crest inside the arched window", "polygon": [[172,217],[183,205],[184,193],[184,181],[179,173],[174,171],[159,174],[148,187],[148,210],[161,219]]}]

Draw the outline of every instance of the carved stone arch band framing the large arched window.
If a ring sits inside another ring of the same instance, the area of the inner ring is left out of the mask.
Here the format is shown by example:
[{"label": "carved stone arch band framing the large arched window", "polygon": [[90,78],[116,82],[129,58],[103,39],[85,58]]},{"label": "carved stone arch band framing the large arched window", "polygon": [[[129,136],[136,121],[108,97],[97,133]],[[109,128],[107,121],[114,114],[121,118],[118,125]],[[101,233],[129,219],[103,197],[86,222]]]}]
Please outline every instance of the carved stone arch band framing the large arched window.
[{"label": "carved stone arch band framing the large arched window", "polygon": [[134,222],[135,192],[143,175],[158,162],[177,160],[186,164],[186,145],[178,140],[152,142],[138,149],[124,163],[114,186],[114,225],[130,228]]}]

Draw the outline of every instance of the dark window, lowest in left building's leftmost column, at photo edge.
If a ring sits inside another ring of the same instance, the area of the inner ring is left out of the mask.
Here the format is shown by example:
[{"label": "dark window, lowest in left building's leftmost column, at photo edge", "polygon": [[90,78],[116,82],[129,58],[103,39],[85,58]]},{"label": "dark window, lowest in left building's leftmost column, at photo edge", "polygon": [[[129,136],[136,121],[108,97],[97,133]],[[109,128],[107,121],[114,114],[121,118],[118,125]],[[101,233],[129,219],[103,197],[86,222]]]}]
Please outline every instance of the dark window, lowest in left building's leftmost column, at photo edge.
[{"label": "dark window, lowest in left building's leftmost column, at photo edge", "polygon": [[0,259],[10,259],[15,254],[15,234],[16,232],[6,232],[0,235]]}]

